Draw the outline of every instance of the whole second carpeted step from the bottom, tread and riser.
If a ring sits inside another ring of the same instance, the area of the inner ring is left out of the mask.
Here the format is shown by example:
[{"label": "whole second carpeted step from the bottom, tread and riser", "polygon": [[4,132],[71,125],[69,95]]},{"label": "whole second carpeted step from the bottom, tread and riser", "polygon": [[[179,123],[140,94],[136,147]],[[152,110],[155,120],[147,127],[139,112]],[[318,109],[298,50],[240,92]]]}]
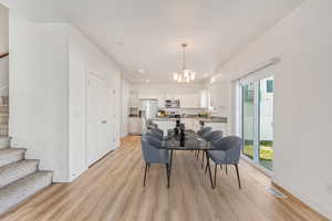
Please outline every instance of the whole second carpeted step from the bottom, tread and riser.
[{"label": "whole second carpeted step from the bottom, tread and riser", "polygon": [[37,171],[39,160],[23,159],[3,167],[0,167],[0,188],[19,180]]}]

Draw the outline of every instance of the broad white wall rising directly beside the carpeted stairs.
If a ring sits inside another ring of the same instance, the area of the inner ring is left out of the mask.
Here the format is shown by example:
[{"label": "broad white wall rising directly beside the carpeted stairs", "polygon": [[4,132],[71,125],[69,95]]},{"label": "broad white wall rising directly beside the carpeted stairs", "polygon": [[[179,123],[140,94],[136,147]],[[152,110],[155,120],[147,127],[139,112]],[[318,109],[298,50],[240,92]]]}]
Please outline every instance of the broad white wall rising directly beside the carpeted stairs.
[{"label": "broad white wall rising directly beside the carpeted stairs", "polygon": [[10,12],[10,125],[13,146],[40,168],[69,176],[68,24],[31,23]]}]

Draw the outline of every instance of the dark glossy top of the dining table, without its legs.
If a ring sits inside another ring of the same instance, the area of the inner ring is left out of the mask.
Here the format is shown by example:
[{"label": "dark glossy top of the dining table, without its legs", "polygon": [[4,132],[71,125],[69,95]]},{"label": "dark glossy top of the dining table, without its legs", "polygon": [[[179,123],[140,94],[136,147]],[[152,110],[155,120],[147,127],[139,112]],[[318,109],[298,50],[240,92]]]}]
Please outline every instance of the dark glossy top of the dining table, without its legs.
[{"label": "dark glossy top of the dining table, without its legs", "polygon": [[160,147],[160,149],[169,150],[214,150],[216,149],[211,143],[205,141],[196,133],[186,131],[185,138],[180,136],[170,136]]}]

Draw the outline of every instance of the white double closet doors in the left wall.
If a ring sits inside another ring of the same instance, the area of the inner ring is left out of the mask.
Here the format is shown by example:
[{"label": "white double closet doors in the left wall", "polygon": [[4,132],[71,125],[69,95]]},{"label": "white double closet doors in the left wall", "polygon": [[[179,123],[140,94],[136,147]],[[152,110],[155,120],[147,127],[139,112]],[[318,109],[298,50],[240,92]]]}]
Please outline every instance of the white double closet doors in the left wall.
[{"label": "white double closet doors in the left wall", "polygon": [[90,74],[87,86],[87,165],[115,147],[114,90]]}]

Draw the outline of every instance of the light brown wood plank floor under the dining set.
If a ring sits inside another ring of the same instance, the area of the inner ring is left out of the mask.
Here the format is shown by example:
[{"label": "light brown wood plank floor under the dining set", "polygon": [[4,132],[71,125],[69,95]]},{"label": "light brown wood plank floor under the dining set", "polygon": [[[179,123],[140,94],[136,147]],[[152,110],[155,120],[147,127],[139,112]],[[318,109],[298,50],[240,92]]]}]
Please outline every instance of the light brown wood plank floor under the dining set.
[{"label": "light brown wood plank floor under the dining set", "polygon": [[242,189],[235,169],[218,173],[216,189],[190,151],[176,151],[166,188],[165,166],[154,165],[143,188],[144,162],[139,137],[126,137],[72,183],[55,183],[2,220],[209,221],[326,220],[293,198],[277,199],[270,180],[241,162]]}]

